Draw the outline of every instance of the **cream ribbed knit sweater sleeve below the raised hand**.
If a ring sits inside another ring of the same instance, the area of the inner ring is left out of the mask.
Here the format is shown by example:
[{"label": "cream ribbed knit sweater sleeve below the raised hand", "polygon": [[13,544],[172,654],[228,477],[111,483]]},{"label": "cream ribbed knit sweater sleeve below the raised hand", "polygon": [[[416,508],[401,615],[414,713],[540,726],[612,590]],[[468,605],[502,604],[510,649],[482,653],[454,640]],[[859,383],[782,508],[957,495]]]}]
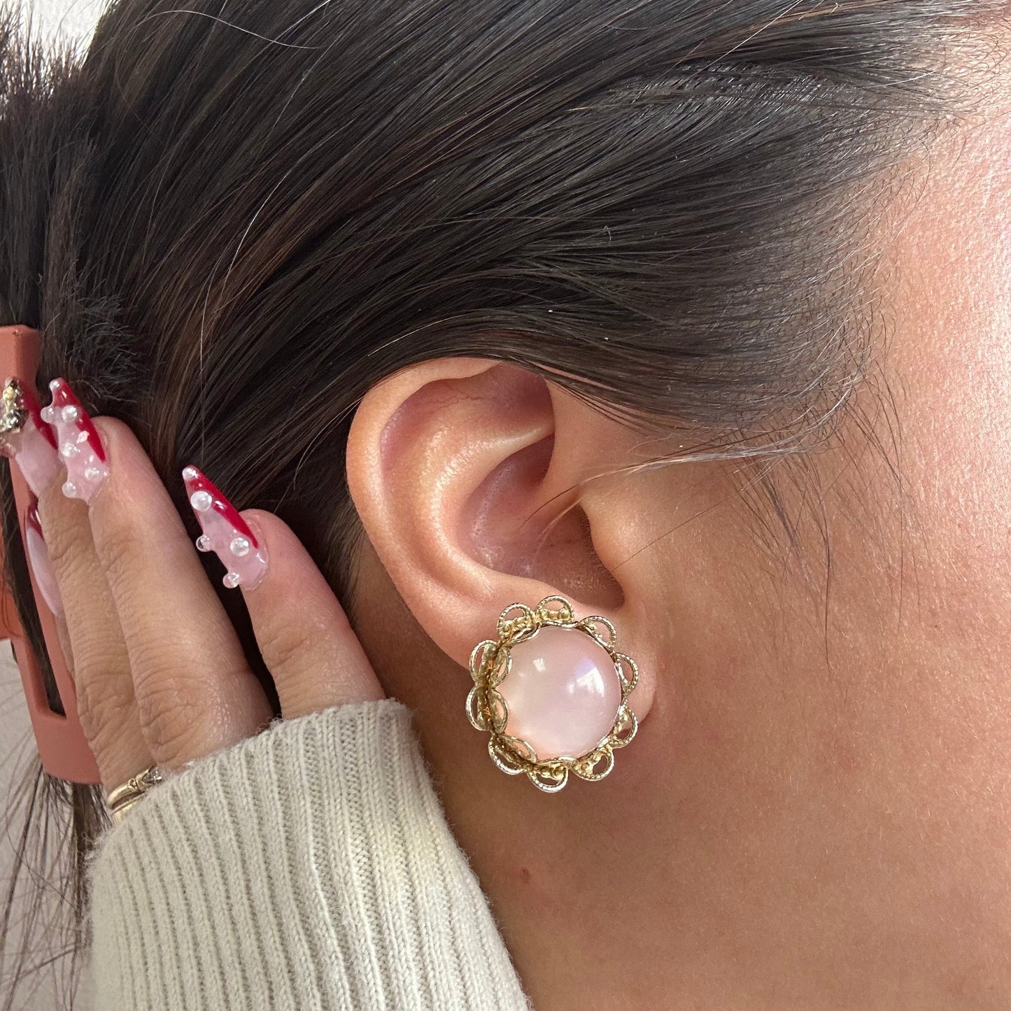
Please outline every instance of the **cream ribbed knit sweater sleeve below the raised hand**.
[{"label": "cream ribbed knit sweater sleeve below the raised hand", "polygon": [[96,1008],[530,1007],[392,700],[191,763],[89,878]]}]

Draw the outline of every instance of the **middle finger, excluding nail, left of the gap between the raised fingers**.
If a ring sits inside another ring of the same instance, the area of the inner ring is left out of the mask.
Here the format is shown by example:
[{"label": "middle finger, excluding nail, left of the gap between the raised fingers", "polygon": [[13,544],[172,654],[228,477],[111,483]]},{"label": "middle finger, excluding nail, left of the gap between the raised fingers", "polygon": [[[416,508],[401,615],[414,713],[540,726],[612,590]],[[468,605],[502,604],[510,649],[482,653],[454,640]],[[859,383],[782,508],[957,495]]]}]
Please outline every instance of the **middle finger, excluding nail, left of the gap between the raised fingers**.
[{"label": "middle finger, excluding nail, left of the gap between the raised fingers", "polygon": [[88,500],[95,551],[145,737],[155,760],[176,768],[256,733],[273,713],[144,448],[121,422],[93,424],[108,463]]}]

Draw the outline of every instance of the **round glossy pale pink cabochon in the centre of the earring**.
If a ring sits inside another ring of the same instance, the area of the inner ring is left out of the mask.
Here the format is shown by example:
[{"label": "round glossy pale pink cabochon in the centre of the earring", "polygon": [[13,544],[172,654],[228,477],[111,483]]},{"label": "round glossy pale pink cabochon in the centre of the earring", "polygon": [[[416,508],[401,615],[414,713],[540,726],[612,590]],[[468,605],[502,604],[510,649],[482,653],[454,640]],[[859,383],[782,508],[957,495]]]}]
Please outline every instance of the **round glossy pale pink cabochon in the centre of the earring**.
[{"label": "round glossy pale pink cabochon in the centre of the earring", "polygon": [[510,650],[498,685],[509,707],[505,733],[538,759],[587,754],[611,732],[622,685],[611,654],[585,632],[545,625]]}]

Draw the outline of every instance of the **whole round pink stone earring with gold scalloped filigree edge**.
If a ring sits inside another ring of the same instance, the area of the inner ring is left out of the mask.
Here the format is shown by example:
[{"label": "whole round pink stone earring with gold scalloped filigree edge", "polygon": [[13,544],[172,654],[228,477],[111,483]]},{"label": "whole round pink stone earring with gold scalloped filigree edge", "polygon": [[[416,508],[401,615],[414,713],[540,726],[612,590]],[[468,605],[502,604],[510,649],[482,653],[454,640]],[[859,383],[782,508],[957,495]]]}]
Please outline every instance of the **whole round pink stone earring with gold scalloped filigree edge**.
[{"label": "whole round pink stone earring with gold scalloped filigree edge", "polygon": [[490,734],[491,760],[549,794],[569,772],[603,779],[615,748],[639,729],[628,706],[639,668],[618,652],[614,625],[596,615],[577,620],[564,596],[552,595],[536,608],[511,604],[497,633],[470,654],[467,696],[471,725]]}]

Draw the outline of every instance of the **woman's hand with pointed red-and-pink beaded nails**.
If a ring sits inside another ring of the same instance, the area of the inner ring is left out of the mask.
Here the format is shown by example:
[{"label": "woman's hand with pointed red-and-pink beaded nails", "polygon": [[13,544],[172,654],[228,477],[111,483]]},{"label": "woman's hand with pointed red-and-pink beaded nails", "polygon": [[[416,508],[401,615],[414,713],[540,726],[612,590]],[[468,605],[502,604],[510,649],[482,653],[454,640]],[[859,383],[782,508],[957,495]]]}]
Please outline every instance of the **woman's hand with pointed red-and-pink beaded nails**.
[{"label": "woman's hand with pointed red-and-pink beaded nails", "polygon": [[[69,435],[88,451],[97,436],[105,467],[92,468],[87,482],[82,472],[77,481],[87,505],[68,498],[57,479],[39,495],[38,517],[63,601],[58,625],[81,723],[102,784],[112,789],[150,765],[175,769],[235,744],[262,730],[273,714],[140,443],[109,418],[95,419],[85,439],[80,433],[88,419],[78,411],[77,418],[70,412],[69,429],[56,419],[59,444],[67,446]],[[199,476],[189,471],[189,477],[191,489],[199,488]],[[206,505],[207,498],[197,504]],[[226,503],[215,502],[203,523],[210,524],[216,547],[227,532],[225,521],[239,537],[245,522],[253,535],[250,548],[267,562],[262,574],[262,566],[244,563],[243,571],[254,577],[243,575],[239,585],[282,716],[382,699],[344,610],[291,530],[269,513],[229,514]],[[228,548],[225,537],[225,553]],[[236,550],[244,548],[240,540]]]}]

